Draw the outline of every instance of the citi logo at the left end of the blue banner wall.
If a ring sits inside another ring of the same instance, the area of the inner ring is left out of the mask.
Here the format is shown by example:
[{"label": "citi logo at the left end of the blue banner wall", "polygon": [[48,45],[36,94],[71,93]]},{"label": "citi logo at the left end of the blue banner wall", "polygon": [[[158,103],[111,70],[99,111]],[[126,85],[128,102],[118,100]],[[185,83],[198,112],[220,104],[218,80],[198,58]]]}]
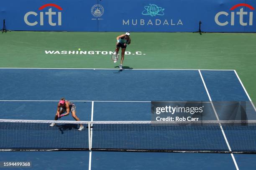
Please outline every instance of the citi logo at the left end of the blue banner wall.
[{"label": "citi logo at the left end of the blue banner wall", "polygon": [[[56,4],[45,4],[41,7],[39,7],[39,10],[43,10],[46,7],[56,7],[58,10],[62,10],[62,8],[59,5]],[[54,23],[53,18],[56,18],[55,15],[58,17],[58,25],[61,25],[61,12],[53,12],[51,8],[48,9],[48,12],[40,12],[40,20],[38,20],[38,17],[35,18],[33,16],[37,16],[38,13],[34,11],[30,11],[24,15],[24,21],[29,26],[35,26],[40,22],[40,25],[44,25],[44,16],[48,15],[48,23],[51,26],[56,26],[57,23]],[[55,19],[56,20],[56,19]]]}]

